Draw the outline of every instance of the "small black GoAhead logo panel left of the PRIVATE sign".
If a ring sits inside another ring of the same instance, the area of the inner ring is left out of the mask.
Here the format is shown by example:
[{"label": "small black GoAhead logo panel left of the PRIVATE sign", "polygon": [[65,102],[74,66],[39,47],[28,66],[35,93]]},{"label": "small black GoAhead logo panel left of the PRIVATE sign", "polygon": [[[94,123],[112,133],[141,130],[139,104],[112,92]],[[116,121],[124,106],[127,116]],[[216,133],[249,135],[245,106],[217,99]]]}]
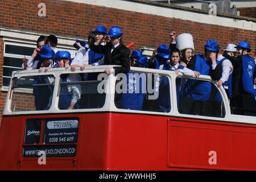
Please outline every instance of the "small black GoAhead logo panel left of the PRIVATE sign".
[{"label": "small black GoAhead logo panel left of the PRIVATE sign", "polygon": [[27,119],[24,143],[35,144],[39,143],[41,133],[41,119]]}]

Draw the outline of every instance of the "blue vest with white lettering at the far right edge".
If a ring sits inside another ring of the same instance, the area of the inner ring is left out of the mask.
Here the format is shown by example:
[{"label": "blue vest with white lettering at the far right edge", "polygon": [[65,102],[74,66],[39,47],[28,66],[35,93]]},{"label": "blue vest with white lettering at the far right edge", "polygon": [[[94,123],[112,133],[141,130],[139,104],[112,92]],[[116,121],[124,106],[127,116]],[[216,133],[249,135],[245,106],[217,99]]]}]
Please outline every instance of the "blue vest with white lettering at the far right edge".
[{"label": "blue vest with white lettering at the far right edge", "polygon": [[253,73],[255,69],[255,61],[249,56],[242,56],[242,84],[245,92],[254,95]]}]

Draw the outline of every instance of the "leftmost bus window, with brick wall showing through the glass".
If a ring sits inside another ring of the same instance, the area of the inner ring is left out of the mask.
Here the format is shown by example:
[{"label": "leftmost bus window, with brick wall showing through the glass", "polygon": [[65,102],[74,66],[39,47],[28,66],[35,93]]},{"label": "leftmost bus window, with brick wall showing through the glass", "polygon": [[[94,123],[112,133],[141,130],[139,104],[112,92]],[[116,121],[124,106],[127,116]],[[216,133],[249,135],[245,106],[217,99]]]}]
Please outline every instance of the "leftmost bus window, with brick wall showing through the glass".
[{"label": "leftmost bus window, with brick wall showing through the glass", "polygon": [[55,77],[52,75],[14,78],[11,110],[35,111],[51,107]]}]

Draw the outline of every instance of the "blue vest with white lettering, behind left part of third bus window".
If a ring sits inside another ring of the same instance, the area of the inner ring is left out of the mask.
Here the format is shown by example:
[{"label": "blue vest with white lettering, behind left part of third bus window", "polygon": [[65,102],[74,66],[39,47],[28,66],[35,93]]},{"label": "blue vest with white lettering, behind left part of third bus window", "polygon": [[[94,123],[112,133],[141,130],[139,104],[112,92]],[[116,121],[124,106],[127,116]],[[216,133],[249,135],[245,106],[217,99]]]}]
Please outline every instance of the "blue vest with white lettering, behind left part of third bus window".
[{"label": "blue vest with white lettering, behind left part of third bus window", "polygon": [[127,93],[122,93],[121,109],[142,110],[146,96],[146,82],[142,82],[142,78],[135,74],[141,75],[141,73],[126,73]]}]

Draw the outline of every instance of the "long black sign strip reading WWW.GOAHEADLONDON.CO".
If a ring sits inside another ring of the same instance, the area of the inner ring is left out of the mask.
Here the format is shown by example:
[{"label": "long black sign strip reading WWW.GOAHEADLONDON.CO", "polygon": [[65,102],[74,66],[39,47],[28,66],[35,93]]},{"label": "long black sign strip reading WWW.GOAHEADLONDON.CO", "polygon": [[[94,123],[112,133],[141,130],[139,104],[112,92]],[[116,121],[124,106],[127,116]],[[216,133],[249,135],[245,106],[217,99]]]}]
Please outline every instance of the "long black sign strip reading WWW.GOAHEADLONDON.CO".
[{"label": "long black sign strip reading WWW.GOAHEADLONDON.CO", "polygon": [[76,155],[76,146],[23,146],[23,157],[25,158],[39,157],[44,154],[46,157],[73,157]]}]

